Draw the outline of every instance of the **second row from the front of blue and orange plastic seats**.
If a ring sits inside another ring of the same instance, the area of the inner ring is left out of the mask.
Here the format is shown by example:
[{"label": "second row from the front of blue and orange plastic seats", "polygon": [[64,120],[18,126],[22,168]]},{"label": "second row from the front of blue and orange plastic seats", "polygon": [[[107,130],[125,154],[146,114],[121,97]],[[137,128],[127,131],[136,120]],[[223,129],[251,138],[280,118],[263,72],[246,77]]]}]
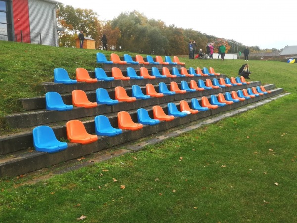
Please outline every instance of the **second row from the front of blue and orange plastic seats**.
[{"label": "second row from the front of blue and orange plastic seats", "polygon": [[[226,82],[229,82],[229,78],[226,78]],[[224,84],[225,81],[223,78],[220,79],[220,83]],[[192,91],[203,91],[205,89],[219,88],[219,87],[228,87],[232,86],[231,84],[220,85],[216,78],[213,79],[213,83],[210,79],[206,79],[206,84],[204,84],[203,80],[198,80],[198,84],[196,81],[190,81],[190,87],[186,81],[181,81],[181,88],[179,88],[178,84],[174,81],[170,83],[170,90],[164,82],[159,83],[159,92],[155,90],[155,87],[152,84],[146,85],[146,95],[143,94],[142,89],[138,85],[132,86],[132,97],[128,96],[125,88],[121,86],[115,87],[115,99],[111,99],[107,90],[104,88],[96,89],[96,102],[90,102],[87,94],[82,90],[73,90],[72,91],[72,102],[76,107],[84,107],[84,108],[93,108],[98,104],[105,105],[115,105],[118,104],[119,101],[125,102],[134,102],[136,99],[148,99],[150,97],[163,97],[164,95],[173,95],[173,94],[184,94],[186,92]],[[246,84],[244,82],[236,84]],[[235,84],[235,85],[236,85]],[[265,93],[266,90],[263,86],[257,86],[256,88],[252,88],[255,92]],[[73,109],[73,105],[66,105],[63,102],[62,96],[57,92],[47,92],[45,95],[46,99],[46,109],[47,110],[56,110],[56,111],[69,111]]]}]

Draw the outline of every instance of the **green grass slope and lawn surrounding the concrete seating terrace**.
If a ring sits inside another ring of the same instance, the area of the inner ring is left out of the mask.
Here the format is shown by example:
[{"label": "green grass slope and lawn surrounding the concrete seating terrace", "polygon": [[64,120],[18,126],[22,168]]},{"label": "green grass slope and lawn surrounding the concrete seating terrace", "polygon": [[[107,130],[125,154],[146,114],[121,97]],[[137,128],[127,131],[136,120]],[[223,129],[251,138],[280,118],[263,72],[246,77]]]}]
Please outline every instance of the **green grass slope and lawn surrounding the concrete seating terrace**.
[{"label": "green grass slope and lawn surrounding the concrete seating terrace", "polygon": [[[0,112],[42,95],[63,67],[93,70],[96,50],[0,42]],[[109,52],[110,53],[110,52]],[[121,55],[119,53],[119,55]],[[130,53],[132,56],[134,53]],[[242,60],[188,60],[236,76]],[[0,222],[297,222],[297,66],[249,61],[251,80],[291,94],[142,151],[27,185],[0,179]],[[84,217],[82,217],[84,218]]]}]

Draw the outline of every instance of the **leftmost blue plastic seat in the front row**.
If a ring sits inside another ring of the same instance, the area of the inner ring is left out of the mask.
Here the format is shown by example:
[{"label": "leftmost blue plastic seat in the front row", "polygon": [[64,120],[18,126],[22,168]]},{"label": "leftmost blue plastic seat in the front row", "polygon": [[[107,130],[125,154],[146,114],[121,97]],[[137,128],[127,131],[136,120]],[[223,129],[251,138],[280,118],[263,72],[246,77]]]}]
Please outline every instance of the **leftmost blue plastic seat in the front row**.
[{"label": "leftmost blue plastic seat in the front row", "polygon": [[49,126],[38,126],[32,131],[33,145],[35,150],[41,152],[55,153],[68,147],[66,142],[57,140],[52,128]]}]

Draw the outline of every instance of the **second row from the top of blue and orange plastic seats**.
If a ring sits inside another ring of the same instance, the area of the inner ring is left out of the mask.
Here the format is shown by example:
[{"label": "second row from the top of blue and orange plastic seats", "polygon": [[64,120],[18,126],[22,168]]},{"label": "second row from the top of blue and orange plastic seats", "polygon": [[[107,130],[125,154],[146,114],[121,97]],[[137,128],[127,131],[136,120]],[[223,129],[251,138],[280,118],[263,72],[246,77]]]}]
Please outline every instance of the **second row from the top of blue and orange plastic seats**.
[{"label": "second row from the top of blue and orange plastic seats", "polygon": [[148,69],[145,67],[140,68],[140,76],[137,75],[136,71],[132,67],[127,67],[127,76],[124,76],[121,69],[117,67],[113,67],[111,69],[112,77],[108,77],[106,72],[102,68],[95,68],[95,78],[91,78],[88,71],[84,68],[76,68],[76,80],[70,79],[68,72],[63,68],[55,68],[54,69],[54,82],[55,83],[63,83],[63,84],[75,84],[77,82],[87,82],[87,83],[95,83],[97,81],[112,81],[112,80],[130,80],[130,79],[155,79],[155,78],[176,78],[176,77],[193,77],[193,76],[219,76],[219,73],[215,73],[212,67],[209,68],[210,71],[206,67],[203,67],[203,71],[201,68],[197,67],[194,70],[193,67],[189,68],[189,71],[185,67],[181,67],[181,72],[173,67],[172,71],[168,69],[168,67],[162,68],[162,74],[160,73],[157,67],[152,67],[151,74],[149,74]]}]

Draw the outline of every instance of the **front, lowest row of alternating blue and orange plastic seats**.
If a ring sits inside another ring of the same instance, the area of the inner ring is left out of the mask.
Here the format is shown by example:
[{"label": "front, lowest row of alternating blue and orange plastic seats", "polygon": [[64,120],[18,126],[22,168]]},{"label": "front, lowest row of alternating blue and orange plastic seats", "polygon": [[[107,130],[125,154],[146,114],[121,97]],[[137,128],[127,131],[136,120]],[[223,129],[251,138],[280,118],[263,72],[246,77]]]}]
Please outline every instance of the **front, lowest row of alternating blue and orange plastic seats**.
[{"label": "front, lowest row of alternating blue and orange plastic seats", "polygon": [[[137,110],[138,123],[133,122],[128,112],[120,111],[117,115],[119,129],[112,127],[106,116],[99,115],[94,119],[96,135],[89,134],[81,121],[71,120],[66,123],[67,138],[72,143],[92,143],[98,139],[98,135],[116,136],[122,133],[122,129],[135,131],[141,129],[143,124],[155,125],[160,121],[171,121],[175,117],[184,117],[188,114],[196,114],[198,111],[216,109],[220,106],[226,106],[227,104],[270,93],[270,91],[266,91],[263,86],[261,86],[260,89],[260,92],[258,92],[256,88],[248,88],[238,90],[237,92],[226,92],[225,95],[222,93],[219,93],[218,96],[211,95],[210,102],[207,97],[203,96],[201,98],[201,105],[198,99],[192,98],[192,108],[190,108],[188,102],[182,100],[180,101],[180,111],[176,104],[170,102],[167,105],[168,114],[164,112],[161,106],[156,105],[153,106],[153,118],[150,118],[147,110],[140,108]],[[33,143],[37,151],[48,153],[62,151],[68,147],[67,143],[57,140],[53,130],[49,126],[38,126],[33,129]]]}]

